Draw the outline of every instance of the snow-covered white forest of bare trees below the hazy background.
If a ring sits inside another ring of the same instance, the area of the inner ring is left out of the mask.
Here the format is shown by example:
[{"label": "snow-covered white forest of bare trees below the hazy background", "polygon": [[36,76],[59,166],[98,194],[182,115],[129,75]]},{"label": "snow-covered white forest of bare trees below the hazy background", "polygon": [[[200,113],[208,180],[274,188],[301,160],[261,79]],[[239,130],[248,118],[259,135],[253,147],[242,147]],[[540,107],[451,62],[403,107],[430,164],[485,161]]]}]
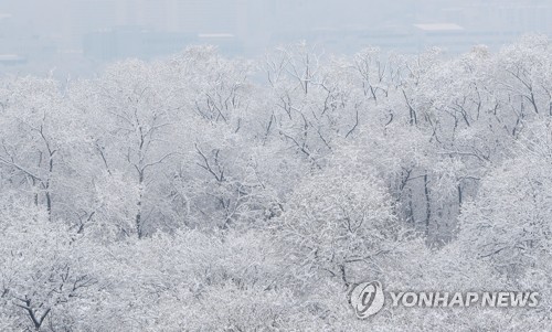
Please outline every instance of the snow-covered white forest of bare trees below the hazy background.
[{"label": "snow-covered white forest of bare trees below the hazy background", "polygon": [[[0,79],[0,331],[548,331],[552,44]],[[348,293],[531,290],[537,308]]]}]

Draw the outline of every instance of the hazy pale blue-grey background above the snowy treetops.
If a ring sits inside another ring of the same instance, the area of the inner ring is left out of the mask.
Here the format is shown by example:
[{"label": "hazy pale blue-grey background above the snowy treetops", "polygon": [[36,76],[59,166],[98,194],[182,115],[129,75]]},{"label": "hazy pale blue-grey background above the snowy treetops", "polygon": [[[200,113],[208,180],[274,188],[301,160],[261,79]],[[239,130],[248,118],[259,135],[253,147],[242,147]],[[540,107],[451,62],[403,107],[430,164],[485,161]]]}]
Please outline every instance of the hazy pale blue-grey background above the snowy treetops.
[{"label": "hazy pale blue-grey background above the snowy treetops", "polygon": [[440,46],[454,55],[550,35],[550,0],[2,0],[0,73],[88,75],[194,44],[254,57],[302,40],[335,54]]}]

